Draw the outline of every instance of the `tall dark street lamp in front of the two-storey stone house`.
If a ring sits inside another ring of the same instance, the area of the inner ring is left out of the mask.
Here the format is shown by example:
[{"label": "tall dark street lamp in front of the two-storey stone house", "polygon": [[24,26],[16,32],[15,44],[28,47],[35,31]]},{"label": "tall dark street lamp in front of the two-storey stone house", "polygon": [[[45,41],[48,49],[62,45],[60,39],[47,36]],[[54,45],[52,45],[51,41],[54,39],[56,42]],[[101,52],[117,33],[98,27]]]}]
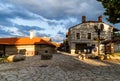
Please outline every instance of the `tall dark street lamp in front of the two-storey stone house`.
[{"label": "tall dark street lamp in front of the two-storey stone house", "polygon": [[95,32],[98,35],[98,37],[97,37],[97,39],[98,39],[98,55],[100,55],[100,41],[101,41],[100,33],[103,31],[104,25],[103,24],[97,24],[97,25],[94,26],[94,28],[95,28]]}]

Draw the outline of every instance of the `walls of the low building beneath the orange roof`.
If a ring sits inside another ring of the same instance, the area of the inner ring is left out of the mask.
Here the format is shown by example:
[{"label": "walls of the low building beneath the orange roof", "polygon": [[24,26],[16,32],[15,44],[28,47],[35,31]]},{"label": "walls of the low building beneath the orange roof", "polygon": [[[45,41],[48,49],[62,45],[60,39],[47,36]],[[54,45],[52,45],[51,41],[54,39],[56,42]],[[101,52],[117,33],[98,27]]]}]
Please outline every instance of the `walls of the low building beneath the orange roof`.
[{"label": "walls of the low building beneath the orange roof", "polygon": [[49,45],[7,45],[5,46],[5,54],[22,54],[26,56],[34,56],[43,53],[56,53],[56,49]]}]

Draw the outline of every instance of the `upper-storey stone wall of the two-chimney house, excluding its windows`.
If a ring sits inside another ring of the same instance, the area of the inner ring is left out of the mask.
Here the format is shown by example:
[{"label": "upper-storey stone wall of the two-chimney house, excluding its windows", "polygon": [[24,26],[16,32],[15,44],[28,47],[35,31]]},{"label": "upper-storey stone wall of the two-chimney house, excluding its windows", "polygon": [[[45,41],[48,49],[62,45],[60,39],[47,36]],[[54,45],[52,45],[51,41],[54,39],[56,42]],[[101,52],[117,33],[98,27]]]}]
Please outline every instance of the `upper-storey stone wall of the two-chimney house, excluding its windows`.
[{"label": "upper-storey stone wall of the two-chimney house, excluding its windows", "polygon": [[[69,39],[71,41],[94,41],[94,38],[97,38],[97,32],[95,32],[94,26],[96,26],[98,23],[83,23],[80,25],[77,25],[73,28],[70,28],[70,35]],[[104,23],[102,23],[104,24]],[[112,27],[110,27],[107,24],[104,24],[104,30],[100,33],[101,38],[105,38],[106,40],[111,39],[111,31]],[[76,38],[76,33],[80,33],[80,39]],[[87,33],[91,33],[91,39],[88,39]]]}]

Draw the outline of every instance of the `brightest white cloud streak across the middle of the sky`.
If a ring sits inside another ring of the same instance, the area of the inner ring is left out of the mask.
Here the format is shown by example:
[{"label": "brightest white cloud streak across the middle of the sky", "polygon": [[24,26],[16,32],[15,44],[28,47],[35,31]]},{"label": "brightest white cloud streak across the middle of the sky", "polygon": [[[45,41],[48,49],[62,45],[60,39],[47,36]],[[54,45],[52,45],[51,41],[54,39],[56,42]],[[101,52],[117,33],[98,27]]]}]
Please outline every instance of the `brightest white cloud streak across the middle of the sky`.
[{"label": "brightest white cloud streak across the middle of the sky", "polygon": [[[55,36],[59,31],[62,32],[67,32],[67,28],[66,25],[70,22],[76,22],[77,19],[75,18],[68,18],[68,19],[63,19],[63,20],[50,20],[50,19],[46,19],[43,18],[41,16],[39,16],[38,18],[36,18],[36,20],[25,20],[22,18],[15,18],[15,19],[8,19],[9,21],[11,21],[14,24],[17,25],[24,25],[24,26],[37,26],[40,28],[44,28],[45,30],[40,31],[40,30],[35,30],[36,32],[39,33],[47,33],[50,34],[51,36]],[[49,24],[49,23],[53,23],[53,24]]]}]

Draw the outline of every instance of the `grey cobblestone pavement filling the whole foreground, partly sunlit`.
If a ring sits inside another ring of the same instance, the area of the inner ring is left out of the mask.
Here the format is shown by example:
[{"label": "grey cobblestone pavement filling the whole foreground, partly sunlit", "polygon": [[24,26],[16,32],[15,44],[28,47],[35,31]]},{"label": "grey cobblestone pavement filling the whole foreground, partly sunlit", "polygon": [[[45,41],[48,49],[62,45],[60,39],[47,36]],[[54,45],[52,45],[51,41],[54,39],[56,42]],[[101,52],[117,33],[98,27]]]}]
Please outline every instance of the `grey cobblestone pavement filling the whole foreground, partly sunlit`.
[{"label": "grey cobblestone pavement filling the whole foreground, partly sunlit", "polygon": [[0,81],[120,81],[120,60],[79,60],[75,55],[54,54],[0,64]]}]

